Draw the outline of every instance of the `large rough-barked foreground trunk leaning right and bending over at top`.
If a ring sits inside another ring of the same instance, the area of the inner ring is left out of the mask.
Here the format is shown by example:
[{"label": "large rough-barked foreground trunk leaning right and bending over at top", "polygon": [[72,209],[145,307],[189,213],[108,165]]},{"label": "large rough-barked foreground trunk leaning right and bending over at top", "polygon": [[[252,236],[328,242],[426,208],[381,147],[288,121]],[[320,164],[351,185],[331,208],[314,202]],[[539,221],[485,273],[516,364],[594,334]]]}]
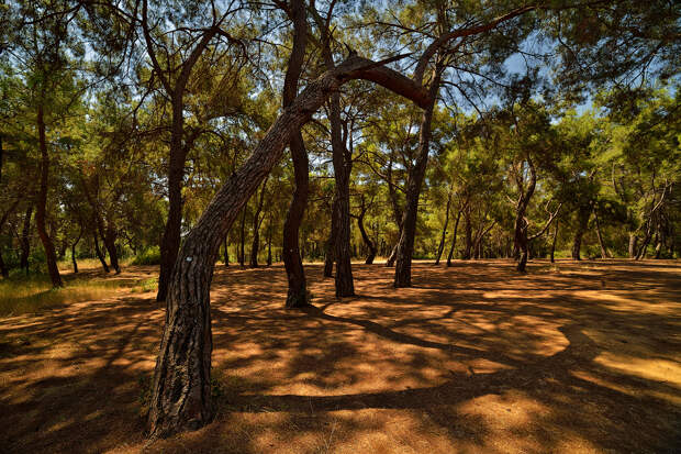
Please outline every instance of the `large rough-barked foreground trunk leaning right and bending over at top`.
[{"label": "large rough-barked foreground trunk leaning right and bending over at top", "polygon": [[[302,8],[302,5],[301,5]],[[149,435],[196,429],[212,418],[210,287],[222,239],[248,198],[279,162],[287,144],[312,114],[346,81],[372,80],[424,106],[413,80],[353,56],[326,71],[295,98],[269,128],[250,157],[215,193],[188,233],[172,268],[166,324],[154,373]]]}]

